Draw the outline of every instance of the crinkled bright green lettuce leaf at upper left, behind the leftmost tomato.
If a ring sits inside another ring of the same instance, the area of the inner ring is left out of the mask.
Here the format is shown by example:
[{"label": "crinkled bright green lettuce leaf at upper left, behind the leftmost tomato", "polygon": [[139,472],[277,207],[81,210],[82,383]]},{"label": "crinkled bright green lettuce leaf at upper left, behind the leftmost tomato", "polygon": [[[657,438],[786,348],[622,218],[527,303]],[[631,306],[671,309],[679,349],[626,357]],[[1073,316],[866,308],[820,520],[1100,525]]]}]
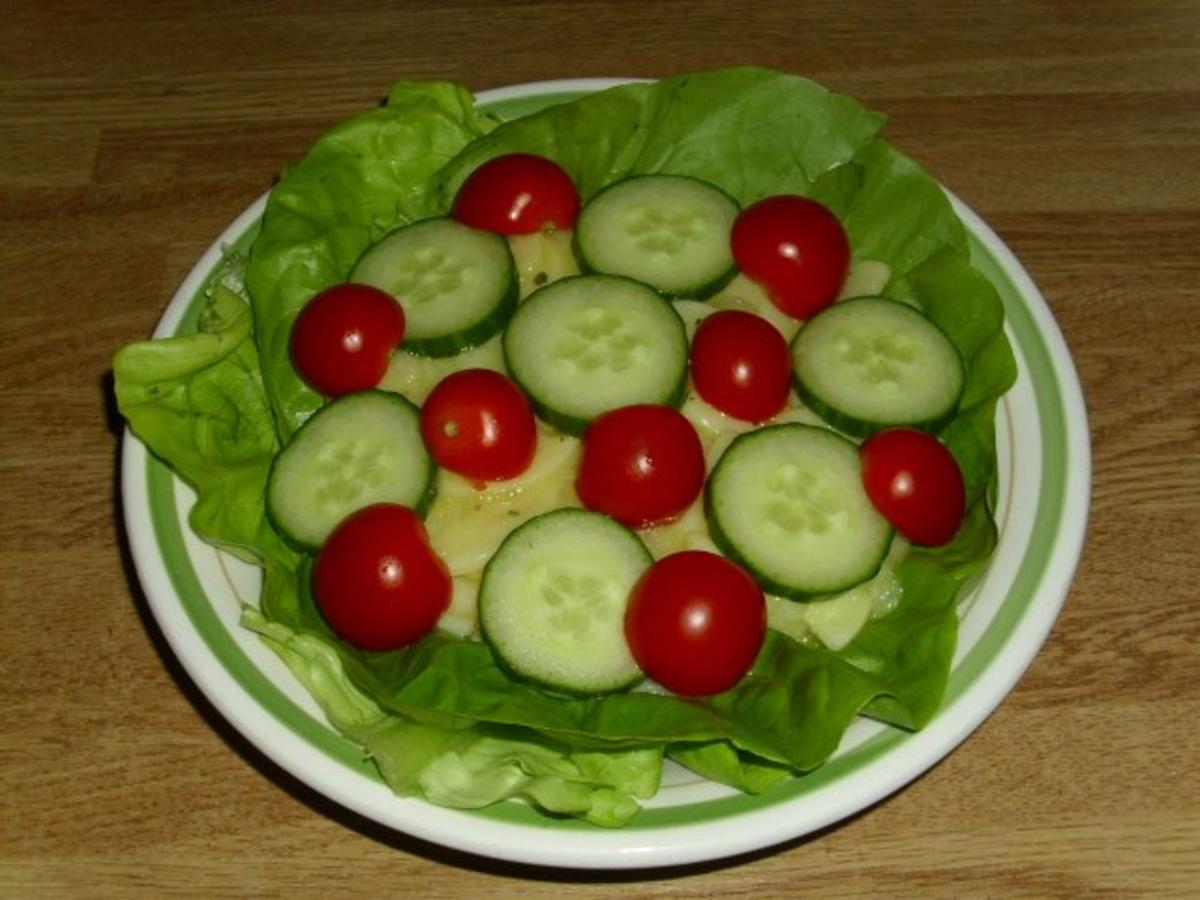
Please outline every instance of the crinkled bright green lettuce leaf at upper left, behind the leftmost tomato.
[{"label": "crinkled bright green lettuce leaf at upper left, behind the leftmost tomato", "polygon": [[344,281],[384,233],[431,215],[430,178],[496,120],[466,88],[408,82],[385,106],[336,126],[271,191],[246,284],[263,380],[287,440],[322,403],[288,354],[308,299]]}]

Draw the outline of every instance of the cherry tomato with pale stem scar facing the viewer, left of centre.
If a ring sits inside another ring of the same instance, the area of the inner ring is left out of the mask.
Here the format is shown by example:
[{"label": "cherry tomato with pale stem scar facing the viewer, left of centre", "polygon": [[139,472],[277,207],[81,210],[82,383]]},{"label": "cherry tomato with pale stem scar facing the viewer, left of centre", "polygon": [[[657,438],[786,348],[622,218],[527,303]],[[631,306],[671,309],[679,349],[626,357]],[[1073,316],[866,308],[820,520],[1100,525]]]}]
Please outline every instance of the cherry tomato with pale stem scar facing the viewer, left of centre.
[{"label": "cherry tomato with pale stem scar facing the viewer, left of centre", "polygon": [[421,434],[439,466],[480,481],[520,475],[538,449],[529,401],[490,368],[463,370],[438,382],[421,408]]}]

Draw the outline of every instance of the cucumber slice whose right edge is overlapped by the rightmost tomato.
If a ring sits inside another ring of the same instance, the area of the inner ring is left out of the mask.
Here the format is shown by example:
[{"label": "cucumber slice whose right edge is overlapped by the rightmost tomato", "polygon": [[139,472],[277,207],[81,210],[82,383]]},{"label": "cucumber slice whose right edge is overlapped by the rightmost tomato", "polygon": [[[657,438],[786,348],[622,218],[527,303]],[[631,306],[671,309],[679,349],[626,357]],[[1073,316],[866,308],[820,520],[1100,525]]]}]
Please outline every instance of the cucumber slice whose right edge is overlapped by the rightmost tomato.
[{"label": "cucumber slice whose right edge is overlapped by the rightmost tomato", "polygon": [[773,425],[739,436],[704,499],[721,551],[767,593],[794,600],[866,581],[892,542],[863,488],[858,448],[828,428]]}]

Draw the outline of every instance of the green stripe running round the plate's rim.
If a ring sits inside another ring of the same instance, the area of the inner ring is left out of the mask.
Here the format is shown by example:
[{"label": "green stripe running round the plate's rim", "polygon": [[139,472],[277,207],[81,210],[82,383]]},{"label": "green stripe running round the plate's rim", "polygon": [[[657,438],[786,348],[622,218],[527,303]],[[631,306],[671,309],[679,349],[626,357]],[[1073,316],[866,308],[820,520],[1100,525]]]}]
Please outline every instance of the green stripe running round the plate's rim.
[{"label": "green stripe running round the plate's rim", "polygon": [[[554,103],[568,102],[586,92],[566,91],[536,97],[518,97],[492,103],[488,109],[505,119],[516,118]],[[258,227],[259,223],[254,222],[234,242],[234,248],[246,252],[257,235]],[[991,665],[1037,596],[1046,563],[1057,544],[1058,532],[1062,527],[1068,463],[1063,394],[1050,350],[1033,316],[1022,302],[1020,293],[1000,262],[974,234],[970,234],[970,248],[972,263],[989,277],[1000,292],[1009,328],[1025,358],[1027,374],[1034,386],[1042,431],[1043,475],[1034,524],[1020,569],[988,630],[954,668],[946,697],[942,701],[943,708],[965,694]],[[187,334],[194,330],[206,287],[208,282],[192,298],[176,334]],[[226,629],[204,593],[187,553],[175,504],[174,484],[169,468],[154,455],[148,454],[146,487],[151,523],[172,584],[192,626],[226,671],[264,710],[298,737],[355,774],[380,782],[378,770],[365,758],[358,744],[343,738],[324,721],[301,709],[258,670]],[[647,809],[626,826],[626,830],[697,824],[752,812],[791,800],[875,762],[899,746],[906,737],[906,732],[894,728],[880,732],[848,752],[834,757],[821,768],[784,781],[762,794],[736,794],[695,804]],[[463,812],[493,821],[540,828],[595,829],[595,826],[580,820],[558,820],[542,816],[530,806],[520,803],[503,803],[482,810],[463,810]]]}]

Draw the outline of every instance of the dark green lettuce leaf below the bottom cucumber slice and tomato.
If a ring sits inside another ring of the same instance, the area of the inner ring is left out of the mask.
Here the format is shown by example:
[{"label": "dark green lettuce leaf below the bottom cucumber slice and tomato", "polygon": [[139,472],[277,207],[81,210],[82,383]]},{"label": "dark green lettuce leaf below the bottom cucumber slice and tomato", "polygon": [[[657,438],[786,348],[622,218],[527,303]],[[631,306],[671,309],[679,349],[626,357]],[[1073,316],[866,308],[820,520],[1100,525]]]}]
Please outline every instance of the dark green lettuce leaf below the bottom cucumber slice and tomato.
[{"label": "dark green lettuce leaf below the bottom cucumber slice and tomato", "polygon": [[[928,608],[913,605],[888,617],[887,631],[864,638],[852,652],[875,671],[856,665],[853,656],[772,631],[749,676],[732,690],[703,698],[649,691],[558,696],[515,680],[485,644],[442,634],[401,650],[350,653],[343,660],[349,677],[382,707],[442,727],[524,726],[581,749],[725,739],[804,772],[820,766],[854,716],[880,697],[913,710],[906,725],[923,716],[926,695],[936,708],[941,695],[935,691],[944,688],[940,664],[953,653],[956,622],[954,592],[943,590],[936,600],[949,607],[944,614],[935,616],[932,600]],[[930,628],[930,619],[943,630]],[[911,640],[913,635],[920,640]],[[929,668],[937,673],[926,676]]]}]

